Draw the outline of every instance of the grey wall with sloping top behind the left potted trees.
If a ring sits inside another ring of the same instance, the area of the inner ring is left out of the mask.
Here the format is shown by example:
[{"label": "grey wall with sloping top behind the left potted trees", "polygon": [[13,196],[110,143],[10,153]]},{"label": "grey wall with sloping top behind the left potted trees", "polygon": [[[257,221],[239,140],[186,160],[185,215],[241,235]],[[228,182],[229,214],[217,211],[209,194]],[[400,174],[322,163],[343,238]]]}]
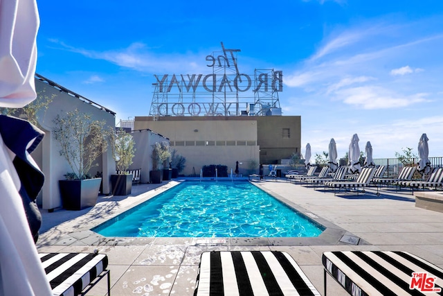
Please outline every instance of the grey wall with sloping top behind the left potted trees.
[{"label": "grey wall with sloping top behind the left potted trees", "polygon": [[[53,99],[52,103],[48,105],[47,110],[39,110],[39,112],[37,112],[39,128],[42,128],[45,132],[42,144],[33,153],[33,158],[45,175],[44,186],[39,198],[37,198],[37,202],[42,205],[43,209],[55,209],[62,207],[58,181],[64,180],[64,174],[71,172],[71,168],[66,162],[66,159],[60,156],[60,146],[53,137],[53,119],[57,114],[78,109],[81,112],[91,114],[93,119],[105,121],[107,128],[114,128],[115,116],[100,109],[100,107],[96,107],[96,105],[84,102],[82,99],[72,96],[38,79],[35,80],[35,88],[39,96],[46,96],[47,98]],[[102,155],[102,157],[97,159],[97,164],[98,166],[91,168],[89,173],[94,176],[97,172],[102,172],[104,176],[103,193],[109,193],[111,191],[109,178],[110,175],[116,171],[110,149]]]}]

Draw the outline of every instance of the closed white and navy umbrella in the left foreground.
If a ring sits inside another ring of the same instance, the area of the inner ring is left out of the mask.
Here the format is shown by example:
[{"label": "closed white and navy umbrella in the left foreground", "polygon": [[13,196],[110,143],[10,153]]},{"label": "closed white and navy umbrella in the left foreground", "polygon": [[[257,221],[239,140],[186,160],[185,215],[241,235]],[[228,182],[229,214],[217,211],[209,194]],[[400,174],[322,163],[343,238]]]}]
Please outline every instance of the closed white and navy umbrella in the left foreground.
[{"label": "closed white and navy umbrella in the left foreground", "polygon": [[[35,0],[0,0],[0,107],[24,107],[36,97],[38,27]],[[39,228],[31,200],[43,186],[30,152],[42,134],[26,121],[0,117],[0,295],[52,295],[30,231]]]}]

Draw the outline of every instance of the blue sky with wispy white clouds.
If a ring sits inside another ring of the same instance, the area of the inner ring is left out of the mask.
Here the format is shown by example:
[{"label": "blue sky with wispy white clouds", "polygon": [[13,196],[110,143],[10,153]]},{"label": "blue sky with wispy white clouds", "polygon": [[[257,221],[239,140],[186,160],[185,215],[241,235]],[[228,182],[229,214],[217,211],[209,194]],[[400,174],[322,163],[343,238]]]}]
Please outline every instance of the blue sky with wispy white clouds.
[{"label": "blue sky with wispy white clouds", "polygon": [[374,158],[422,133],[443,156],[441,1],[37,0],[37,73],[117,112],[147,116],[154,74],[210,73],[240,49],[242,72],[283,71],[283,115],[302,116],[302,153],[343,157],[353,134]]}]

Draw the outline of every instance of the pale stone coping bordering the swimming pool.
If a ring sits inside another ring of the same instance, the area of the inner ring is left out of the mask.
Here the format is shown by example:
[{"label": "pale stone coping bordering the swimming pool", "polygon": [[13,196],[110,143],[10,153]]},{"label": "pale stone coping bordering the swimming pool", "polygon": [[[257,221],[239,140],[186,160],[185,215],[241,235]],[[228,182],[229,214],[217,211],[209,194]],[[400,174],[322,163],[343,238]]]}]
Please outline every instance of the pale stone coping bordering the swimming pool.
[{"label": "pale stone coping bordering the swimming pool", "polygon": [[[88,223],[84,225],[78,225],[75,232],[70,232],[65,234],[61,239],[53,240],[52,238],[44,239],[40,241],[42,245],[194,245],[194,246],[279,246],[279,245],[368,245],[367,242],[361,240],[354,234],[347,232],[345,229],[338,227],[329,220],[326,220],[316,214],[313,214],[307,209],[300,207],[298,204],[283,198],[281,195],[260,186],[260,182],[255,180],[244,180],[244,182],[249,182],[257,188],[263,190],[269,195],[273,196],[280,202],[287,204],[298,213],[305,216],[311,222],[321,225],[325,229],[317,237],[116,237],[116,236],[102,236],[96,232],[93,232],[94,227],[105,223],[107,220],[111,220],[116,216],[123,214],[123,212],[128,211],[139,204],[154,198],[174,186],[181,184],[181,182],[186,182],[185,179],[177,180],[174,182],[168,182],[167,184],[162,184],[153,191],[147,191],[138,195],[138,200],[127,206],[121,207],[112,214],[102,215],[94,217],[89,220]],[[100,211],[100,209],[97,209]],[[80,223],[81,224],[81,223]],[[351,239],[349,239],[351,238]]]}]

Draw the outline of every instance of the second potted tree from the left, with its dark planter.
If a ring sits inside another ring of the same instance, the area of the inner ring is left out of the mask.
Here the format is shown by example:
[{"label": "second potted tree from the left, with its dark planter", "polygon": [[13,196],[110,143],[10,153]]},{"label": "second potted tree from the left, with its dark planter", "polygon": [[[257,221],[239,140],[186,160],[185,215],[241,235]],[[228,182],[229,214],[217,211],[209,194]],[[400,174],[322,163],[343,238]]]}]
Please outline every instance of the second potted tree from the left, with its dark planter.
[{"label": "second potted tree from the left, with its dark planter", "polygon": [[113,195],[129,195],[132,191],[132,174],[127,169],[134,159],[135,141],[132,134],[123,129],[111,130],[112,157],[116,161],[116,175],[111,175],[111,187]]}]

